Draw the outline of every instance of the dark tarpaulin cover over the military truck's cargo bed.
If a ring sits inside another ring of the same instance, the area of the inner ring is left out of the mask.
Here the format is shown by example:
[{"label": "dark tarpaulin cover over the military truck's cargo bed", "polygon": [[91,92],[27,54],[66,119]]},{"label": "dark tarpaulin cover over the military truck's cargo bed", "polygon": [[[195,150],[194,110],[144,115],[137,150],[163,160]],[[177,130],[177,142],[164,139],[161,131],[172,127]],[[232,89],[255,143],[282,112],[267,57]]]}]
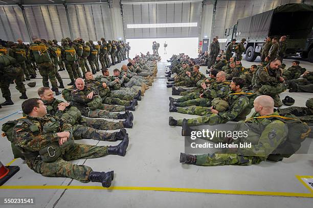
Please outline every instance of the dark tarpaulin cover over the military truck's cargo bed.
[{"label": "dark tarpaulin cover over the military truck's cargo bed", "polygon": [[[288,12],[310,13],[313,12],[313,6],[305,4],[286,4],[254,16],[238,19],[236,37],[266,37],[269,35],[274,14]],[[309,21],[311,22],[312,20]],[[287,24],[287,22],[285,23]],[[301,24],[301,22],[298,24]],[[303,24],[306,25],[305,27],[311,28],[307,21],[303,21]]]}]

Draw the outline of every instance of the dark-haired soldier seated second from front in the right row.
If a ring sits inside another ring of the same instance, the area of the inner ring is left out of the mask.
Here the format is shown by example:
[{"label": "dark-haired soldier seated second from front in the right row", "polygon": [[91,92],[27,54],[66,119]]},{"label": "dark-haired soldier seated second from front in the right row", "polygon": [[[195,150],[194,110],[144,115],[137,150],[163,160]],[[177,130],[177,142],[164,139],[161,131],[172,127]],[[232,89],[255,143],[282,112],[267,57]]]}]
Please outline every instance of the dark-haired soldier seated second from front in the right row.
[{"label": "dark-haired soldier seated second from front in the right row", "polygon": [[[249,99],[241,89],[244,86],[244,80],[239,77],[234,77],[230,84],[231,91],[224,99],[228,102],[229,108],[225,112],[218,112],[216,109],[211,108],[211,113],[203,115],[195,119],[187,119],[188,126],[196,126],[202,124],[216,125],[226,123],[228,121],[240,121],[244,120],[250,113]],[[204,109],[207,110],[207,109]],[[190,111],[190,112],[188,112]],[[196,108],[187,108],[186,112],[191,114],[195,111],[199,111]],[[175,120],[173,117],[169,118],[170,126],[182,126],[183,120]]]}]

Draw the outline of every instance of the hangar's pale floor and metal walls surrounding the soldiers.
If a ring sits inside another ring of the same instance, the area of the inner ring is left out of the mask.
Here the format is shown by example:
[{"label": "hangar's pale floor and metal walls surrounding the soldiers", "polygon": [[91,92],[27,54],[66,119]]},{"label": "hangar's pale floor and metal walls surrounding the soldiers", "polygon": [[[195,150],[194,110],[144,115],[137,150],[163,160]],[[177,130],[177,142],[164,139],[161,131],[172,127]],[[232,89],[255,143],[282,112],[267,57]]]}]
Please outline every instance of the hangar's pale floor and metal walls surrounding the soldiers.
[{"label": "hangar's pale floor and metal walls surrounding the soldiers", "polygon": [[[191,119],[196,115],[169,112],[171,88],[166,87],[164,77],[173,54],[188,54],[196,58],[198,49],[208,51],[215,36],[219,37],[221,50],[226,50],[227,29],[238,19],[270,11],[278,6],[293,3],[313,5],[313,0],[2,0],[0,1],[0,39],[25,44],[33,36],[41,39],[81,37],[95,43],[105,40],[124,40],[131,47],[129,57],[133,58],[152,52],[153,41],[160,42],[157,62],[158,74],[147,93],[133,111],[133,128],[127,129],[129,145],[124,157],[107,155],[101,158],[77,159],[77,165],[87,165],[95,171],[115,171],[110,188],[90,182],[82,183],[65,177],[44,177],[31,170],[21,158],[14,159],[11,144],[0,140],[0,161],[7,166],[19,166],[20,170],[3,186],[0,199],[32,197],[35,203],[4,204],[1,207],[311,207],[313,198],[313,144],[312,138],[302,143],[299,153],[282,161],[262,161],[251,166],[192,166],[181,164],[180,153],[185,151],[185,137],[180,126],[169,126],[170,116],[175,119]],[[305,17],[301,17],[305,18]],[[297,21],[301,21],[301,18]],[[297,24],[293,21],[292,24]],[[309,21],[309,20],[307,20]],[[306,22],[303,20],[303,22]],[[278,24],[277,22],[275,24]],[[289,22],[279,22],[280,27],[293,27]],[[165,54],[163,43],[168,43]],[[247,56],[247,55],[246,55]],[[283,63],[289,67],[294,60],[313,72],[313,63],[307,58],[288,57]],[[259,64],[261,57],[253,61],[241,61],[244,67]],[[108,68],[110,75],[115,68],[121,69],[128,60]],[[200,66],[206,74],[207,66]],[[70,83],[66,71],[59,72],[64,86]],[[97,72],[96,75],[101,75]],[[37,98],[37,89],[42,85],[42,76],[25,81],[28,98]],[[36,81],[36,87],[27,83]],[[0,124],[23,116],[19,92],[15,84],[10,85],[14,105],[2,106]],[[294,98],[293,106],[305,107],[310,93],[280,95]],[[55,96],[64,100],[62,95]],[[4,99],[1,98],[1,101]],[[288,106],[283,105],[281,108]],[[249,114],[252,115],[254,109]],[[108,121],[119,121],[106,119]],[[230,123],[234,123],[231,121]],[[201,126],[204,127],[205,126]],[[114,132],[115,130],[107,130]],[[77,140],[78,144],[117,145],[117,142]],[[214,153],[216,149],[210,149]],[[300,153],[301,152],[301,153]],[[303,153],[304,152],[304,153]],[[1,176],[1,175],[0,175]]]}]

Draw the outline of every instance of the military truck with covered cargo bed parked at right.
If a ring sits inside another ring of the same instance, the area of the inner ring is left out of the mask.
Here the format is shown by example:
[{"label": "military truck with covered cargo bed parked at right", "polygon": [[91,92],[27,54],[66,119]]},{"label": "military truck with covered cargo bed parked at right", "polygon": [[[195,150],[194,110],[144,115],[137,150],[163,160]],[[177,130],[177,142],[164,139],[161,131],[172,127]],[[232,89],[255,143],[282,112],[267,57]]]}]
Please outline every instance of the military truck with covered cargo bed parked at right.
[{"label": "military truck with covered cargo bed parked at right", "polygon": [[[287,56],[297,53],[313,61],[312,38],[308,38],[313,26],[313,6],[286,4],[273,10],[237,20],[237,24],[225,30],[227,45],[232,39],[240,42],[246,38],[245,60],[254,61],[260,56],[261,47],[267,36],[287,36]],[[310,42],[309,42],[310,41]]]}]

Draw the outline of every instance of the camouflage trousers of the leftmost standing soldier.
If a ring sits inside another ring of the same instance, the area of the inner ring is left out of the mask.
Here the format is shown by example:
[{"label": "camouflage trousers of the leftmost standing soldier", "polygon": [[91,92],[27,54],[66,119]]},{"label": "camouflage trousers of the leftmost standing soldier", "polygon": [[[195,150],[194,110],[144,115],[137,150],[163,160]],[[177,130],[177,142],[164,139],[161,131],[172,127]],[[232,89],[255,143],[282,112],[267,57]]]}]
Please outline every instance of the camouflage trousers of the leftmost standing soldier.
[{"label": "camouflage trousers of the leftmost standing soldier", "polygon": [[2,97],[11,97],[11,91],[9,87],[13,80],[16,84],[15,88],[19,91],[19,93],[26,93],[25,85],[22,82],[24,74],[21,67],[4,67],[4,72],[4,74],[0,75],[0,88],[2,92]]}]

